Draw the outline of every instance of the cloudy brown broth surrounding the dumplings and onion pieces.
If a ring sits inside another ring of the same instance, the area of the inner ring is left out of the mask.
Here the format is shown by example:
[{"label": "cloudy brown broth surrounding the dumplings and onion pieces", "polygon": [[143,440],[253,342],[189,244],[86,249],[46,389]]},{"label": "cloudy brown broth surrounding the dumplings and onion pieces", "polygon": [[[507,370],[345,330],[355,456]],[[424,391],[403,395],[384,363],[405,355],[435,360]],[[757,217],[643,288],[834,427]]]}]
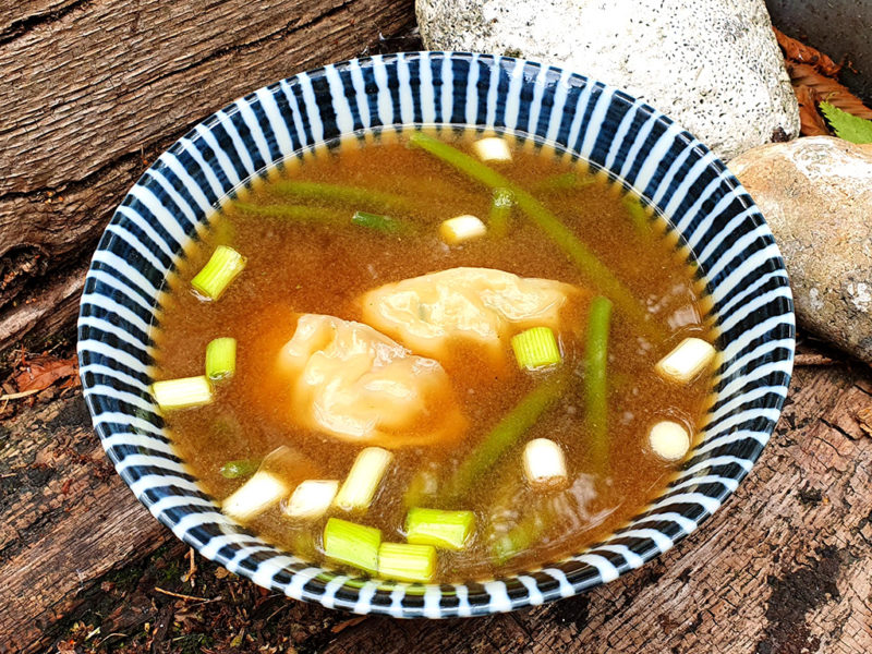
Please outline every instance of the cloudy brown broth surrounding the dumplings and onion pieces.
[{"label": "cloudy brown broth surrounding the dumplings and onion pieces", "polygon": [[[445,135],[443,137],[446,137]],[[448,138],[468,149],[471,133]],[[509,138],[510,143],[513,143]],[[530,142],[514,144],[513,162],[500,171],[521,187],[535,190],[555,175],[576,171],[585,183],[574,189],[542,191],[536,196],[577,233],[615,275],[643,302],[665,338],[654,342],[640,337],[620,312],[613,316],[609,338],[609,439],[611,468],[597,474],[585,446],[582,420],[583,378],[574,379],[558,404],[546,412],[460,502],[476,516],[476,534],[463,552],[439,552],[435,581],[484,579],[553,561],[581,550],[626,523],[655,498],[676,471],[675,463],[658,459],[647,447],[647,431],[657,420],[670,417],[695,431],[710,400],[710,378],[676,389],[653,373],[654,364],[687,336],[711,340],[700,316],[699,281],[675,240],[664,237],[665,221],[656,218],[640,230],[620,201],[620,187],[603,173],[592,175],[583,162],[557,156]],[[170,413],[168,428],[179,455],[202,486],[225,498],[244,480],[226,480],[220,468],[238,459],[258,459],[280,445],[290,445],[311,459],[319,479],[344,479],[361,446],[293,424],[286,410],[287,392],[270,383],[270,363],[294,330],[294,315],[322,313],[360,320],[356,299],[390,281],[417,277],[457,266],[489,267],[525,277],[540,277],[588,288],[562,252],[514,208],[509,237],[485,237],[460,247],[447,247],[436,227],[460,214],[486,220],[492,193],[448,168],[431,155],[410,148],[404,136],[368,135],[362,144],[351,138],[332,149],[322,148],[270,172],[240,194],[255,205],[289,203],[274,194],[281,179],[366,186],[409,197],[415,209],[403,219],[422,228],[420,237],[388,237],[352,226],[301,223],[252,215],[228,202],[213,229],[180,263],[170,278],[157,344],[156,378],[203,374],[209,340],[232,336],[238,340],[238,372],[217,388],[210,405]],[[299,204],[299,203],[295,203]],[[319,206],[327,206],[316,203]],[[351,211],[332,205],[348,220]],[[361,207],[376,210],[376,207]],[[383,211],[384,213],[384,211]],[[395,213],[396,215],[396,213]],[[190,292],[190,280],[217,244],[228,244],[247,257],[243,274],[217,302],[203,302]],[[583,314],[577,319],[583,324]],[[564,340],[565,363],[583,361],[583,339]],[[384,541],[403,542],[403,494],[414,472],[435,467],[445,479],[481,441],[507,411],[533,387],[521,371],[492,370],[474,353],[443,361],[470,427],[452,447],[397,450],[395,463],[365,516],[350,519],[377,526]],[[513,361],[509,359],[509,361]],[[547,436],[567,456],[572,484],[558,498],[542,500],[523,481],[520,452],[523,443]],[[502,566],[494,562],[495,523],[529,520],[543,501],[557,502],[550,526],[525,552]],[[340,514],[332,511],[329,514]],[[499,518],[497,520],[496,517]],[[271,509],[252,523],[265,540],[322,561],[320,533],[326,517],[298,524]]]}]

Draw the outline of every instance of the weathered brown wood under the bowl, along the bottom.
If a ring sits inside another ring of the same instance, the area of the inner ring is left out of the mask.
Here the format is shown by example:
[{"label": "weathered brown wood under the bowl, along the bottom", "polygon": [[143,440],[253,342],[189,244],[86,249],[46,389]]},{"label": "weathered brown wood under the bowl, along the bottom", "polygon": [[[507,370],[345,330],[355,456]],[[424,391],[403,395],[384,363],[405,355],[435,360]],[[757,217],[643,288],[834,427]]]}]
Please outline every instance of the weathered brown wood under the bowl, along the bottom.
[{"label": "weathered brown wood under the bowl, along the bottom", "polygon": [[[332,654],[870,652],[872,437],[857,417],[870,408],[869,368],[799,368],[771,445],[711,522],[642,570],[554,605],[468,621],[366,618],[342,629],[351,616],[215,579],[218,568],[202,560],[208,583],[174,590],[222,597],[193,604],[198,621],[191,634],[204,639],[232,638],[215,627],[231,619],[228,611],[251,631],[254,618],[242,607],[265,603],[256,616],[261,631],[243,647],[252,652],[283,647],[288,638]],[[174,537],[107,470],[77,395],[27,411],[2,429],[0,606],[7,610],[0,643],[35,652],[64,630],[69,637],[72,618],[96,596],[106,600],[101,589],[109,588],[111,570],[154,569],[168,556],[186,567],[181,546],[152,558]],[[92,621],[73,640],[81,644],[96,627],[126,638],[146,622],[149,639],[160,635],[154,629],[161,611],[172,616],[191,603],[155,591],[154,574],[143,573],[135,590],[97,618],[88,614]],[[159,651],[173,651],[165,647]]]}]

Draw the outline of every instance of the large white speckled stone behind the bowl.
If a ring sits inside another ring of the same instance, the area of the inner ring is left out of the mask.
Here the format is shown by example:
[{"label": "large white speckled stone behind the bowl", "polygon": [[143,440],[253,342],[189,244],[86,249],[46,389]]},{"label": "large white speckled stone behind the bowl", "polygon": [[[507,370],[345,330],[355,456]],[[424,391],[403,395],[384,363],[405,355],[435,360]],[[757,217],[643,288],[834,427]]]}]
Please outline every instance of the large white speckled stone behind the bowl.
[{"label": "large white speckled stone behind the bowl", "polygon": [[424,45],[553,63],[653,105],[722,159],[799,135],[763,0],[417,0]]}]

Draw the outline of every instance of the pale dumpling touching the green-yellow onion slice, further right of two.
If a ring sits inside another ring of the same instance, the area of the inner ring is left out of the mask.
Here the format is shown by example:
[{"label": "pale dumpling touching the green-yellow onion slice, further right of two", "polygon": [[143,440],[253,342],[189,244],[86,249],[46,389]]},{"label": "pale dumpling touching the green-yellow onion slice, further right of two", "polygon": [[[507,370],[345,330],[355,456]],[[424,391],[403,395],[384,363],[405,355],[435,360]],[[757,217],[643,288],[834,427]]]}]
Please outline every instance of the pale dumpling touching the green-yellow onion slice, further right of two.
[{"label": "pale dumpling touching the green-yellow onion slice, further right of two", "polygon": [[502,342],[534,326],[559,328],[561,308],[579,289],[493,268],[450,268],[365,293],[363,319],[414,352],[445,358],[465,340],[501,356]]}]

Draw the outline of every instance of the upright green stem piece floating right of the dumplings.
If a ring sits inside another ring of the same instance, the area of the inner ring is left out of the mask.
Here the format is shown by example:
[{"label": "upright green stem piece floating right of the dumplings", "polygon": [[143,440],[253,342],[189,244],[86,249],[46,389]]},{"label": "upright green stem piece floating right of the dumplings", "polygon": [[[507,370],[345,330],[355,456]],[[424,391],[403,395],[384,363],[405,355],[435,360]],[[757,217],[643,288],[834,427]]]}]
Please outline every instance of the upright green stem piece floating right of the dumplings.
[{"label": "upright green stem piece floating right of the dumplings", "polygon": [[588,338],[584,349],[585,419],[591,438],[593,464],[598,472],[608,468],[608,332],[611,302],[598,295],[588,313]]}]

